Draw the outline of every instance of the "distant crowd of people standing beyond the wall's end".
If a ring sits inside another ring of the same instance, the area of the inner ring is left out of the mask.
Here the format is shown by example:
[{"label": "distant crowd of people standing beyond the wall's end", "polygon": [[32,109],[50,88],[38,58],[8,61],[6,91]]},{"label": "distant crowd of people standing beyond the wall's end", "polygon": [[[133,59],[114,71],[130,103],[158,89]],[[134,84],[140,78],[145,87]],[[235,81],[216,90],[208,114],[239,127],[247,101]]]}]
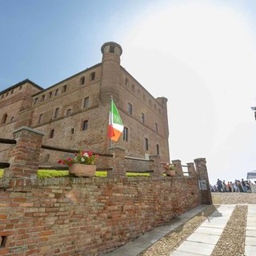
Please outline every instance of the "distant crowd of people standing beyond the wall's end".
[{"label": "distant crowd of people standing beyond the wall's end", "polygon": [[251,192],[250,181],[244,181],[243,178],[240,180],[235,180],[234,182],[221,181],[218,178],[216,185],[211,186],[212,192]]}]

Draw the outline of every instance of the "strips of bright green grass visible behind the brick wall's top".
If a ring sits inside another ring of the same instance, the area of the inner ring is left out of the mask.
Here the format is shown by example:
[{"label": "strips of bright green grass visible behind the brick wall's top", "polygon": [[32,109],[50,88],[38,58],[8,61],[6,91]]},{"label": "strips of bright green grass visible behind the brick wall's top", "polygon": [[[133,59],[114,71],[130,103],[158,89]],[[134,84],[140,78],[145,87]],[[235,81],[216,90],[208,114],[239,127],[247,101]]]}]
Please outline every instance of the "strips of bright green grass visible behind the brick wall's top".
[{"label": "strips of bright green grass visible behind the brick wall's top", "polygon": [[[3,170],[0,169],[0,178],[2,178]],[[58,177],[68,177],[69,171],[68,170],[38,170],[38,178],[58,178]],[[127,172],[127,177],[138,177],[138,176],[144,176],[144,177],[150,177],[150,174],[148,173],[133,173],[133,172]],[[107,171],[104,170],[97,170],[96,171],[96,177],[107,177]]]}]

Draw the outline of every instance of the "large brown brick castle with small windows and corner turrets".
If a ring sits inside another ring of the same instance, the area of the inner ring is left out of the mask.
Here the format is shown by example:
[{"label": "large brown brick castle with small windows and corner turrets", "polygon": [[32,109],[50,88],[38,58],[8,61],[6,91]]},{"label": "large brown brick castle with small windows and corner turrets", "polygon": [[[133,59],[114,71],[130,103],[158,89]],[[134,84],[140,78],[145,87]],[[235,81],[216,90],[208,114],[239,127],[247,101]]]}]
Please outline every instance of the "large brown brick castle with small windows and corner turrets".
[{"label": "large brown brick castle with small windows and corner turrets", "polygon": [[[170,162],[167,98],[154,98],[120,65],[118,43],[106,42],[101,50],[102,62],[49,88],[26,79],[2,90],[0,138],[13,138],[13,130],[28,126],[45,134],[44,145],[105,153],[112,96],[125,126],[112,144],[130,157],[157,154]],[[2,161],[8,149],[1,146]],[[53,161],[51,154],[42,153],[42,162]]]}]

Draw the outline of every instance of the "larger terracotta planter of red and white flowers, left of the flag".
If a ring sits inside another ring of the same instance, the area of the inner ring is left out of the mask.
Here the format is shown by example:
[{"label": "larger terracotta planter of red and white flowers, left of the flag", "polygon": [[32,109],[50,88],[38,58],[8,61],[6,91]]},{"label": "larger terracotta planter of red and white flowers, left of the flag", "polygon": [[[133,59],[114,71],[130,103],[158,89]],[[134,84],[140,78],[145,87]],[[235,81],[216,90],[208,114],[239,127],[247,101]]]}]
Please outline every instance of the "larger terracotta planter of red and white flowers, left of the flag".
[{"label": "larger terracotta planter of red and white flowers, left of the flag", "polygon": [[95,162],[97,158],[98,154],[94,154],[93,151],[79,150],[78,153],[69,158],[58,160],[58,163],[68,166],[71,175],[93,177],[96,172]]}]

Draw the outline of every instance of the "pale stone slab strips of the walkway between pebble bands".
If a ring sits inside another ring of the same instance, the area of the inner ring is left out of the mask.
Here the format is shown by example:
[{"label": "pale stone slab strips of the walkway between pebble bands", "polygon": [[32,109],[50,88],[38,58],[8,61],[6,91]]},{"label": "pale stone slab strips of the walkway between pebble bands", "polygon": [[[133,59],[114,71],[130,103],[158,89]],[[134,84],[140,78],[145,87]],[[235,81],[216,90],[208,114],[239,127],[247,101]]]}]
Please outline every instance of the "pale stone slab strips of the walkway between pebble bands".
[{"label": "pale stone slab strips of the walkway between pebble bands", "polygon": [[[193,234],[186,238],[186,240],[170,254],[170,256],[210,256],[235,206],[236,205],[219,206],[205,222],[202,222],[202,224],[194,230]],[[104,256],[137,256],[143,250],[153,245],[154,242],[157,242],[205,208],[206,206],[197,206],[178,218],[166,222],[162,226],[158,226],[133,242],[129,242],[113,252],[104,254]],[[245,255],[256,255],[256,205],[248,205]]]}]

